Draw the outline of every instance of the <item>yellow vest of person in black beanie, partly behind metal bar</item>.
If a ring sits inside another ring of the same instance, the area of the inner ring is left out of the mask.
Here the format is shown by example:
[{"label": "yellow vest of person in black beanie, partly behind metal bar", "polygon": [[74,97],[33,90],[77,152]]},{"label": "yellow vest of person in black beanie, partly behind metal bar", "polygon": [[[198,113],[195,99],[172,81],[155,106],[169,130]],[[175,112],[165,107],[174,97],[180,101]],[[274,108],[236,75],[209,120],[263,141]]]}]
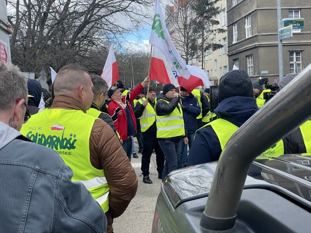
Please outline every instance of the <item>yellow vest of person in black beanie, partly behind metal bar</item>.
[{"label": "yellow vest of person in black beanie, partly behind metal bar", "polygon": [[[214,120],[208,123],[207,125],[210,125],[215,131],[219,139],[222,150],[224,150],[225,144],[227,143],[229,138],[233,135],[233,133],[235,133],[239,129],[239,127],[224,119]],[[207,125],[203,127],[207,127]],[[284,154],[284,146],[283,141],[280,140],[276,144],[274,144],[271,148],[262,152],[260,156],[279,156],[282,154]]]}]

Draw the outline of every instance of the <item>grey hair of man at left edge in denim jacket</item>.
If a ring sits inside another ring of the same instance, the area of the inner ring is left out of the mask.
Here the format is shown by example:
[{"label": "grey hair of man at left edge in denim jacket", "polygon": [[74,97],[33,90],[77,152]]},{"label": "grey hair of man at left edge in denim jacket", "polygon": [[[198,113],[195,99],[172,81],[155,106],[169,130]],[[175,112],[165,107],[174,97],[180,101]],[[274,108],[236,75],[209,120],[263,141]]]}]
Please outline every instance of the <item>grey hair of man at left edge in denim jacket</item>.
[{"label": "grey hair of man at left edge in denim jacket", "polygon": [[24,99],[27,103],[27,95],[27,78],[19,67],[0,62],[0,110],[11,109],[17,99]]}]

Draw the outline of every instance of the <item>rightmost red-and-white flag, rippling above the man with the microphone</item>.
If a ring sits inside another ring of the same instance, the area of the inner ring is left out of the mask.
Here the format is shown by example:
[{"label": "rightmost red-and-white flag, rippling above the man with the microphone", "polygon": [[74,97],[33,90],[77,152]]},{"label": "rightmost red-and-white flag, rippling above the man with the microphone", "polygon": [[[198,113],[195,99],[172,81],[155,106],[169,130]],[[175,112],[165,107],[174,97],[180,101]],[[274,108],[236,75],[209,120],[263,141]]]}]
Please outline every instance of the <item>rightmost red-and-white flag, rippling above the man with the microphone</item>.
[{"label": "rightmost red-and-white flag, rippling above the man with the microphone", "polygon": [[180,86],[184,87],[189,93],[191,93],[191,91],[197,86],[205,86],[208,88],[211,85],[208,80],[207,73],[204,72],[203,69],[190,65],[187,65],[187,67],[191,73],[189,79],[178,75],[178,83]]}]

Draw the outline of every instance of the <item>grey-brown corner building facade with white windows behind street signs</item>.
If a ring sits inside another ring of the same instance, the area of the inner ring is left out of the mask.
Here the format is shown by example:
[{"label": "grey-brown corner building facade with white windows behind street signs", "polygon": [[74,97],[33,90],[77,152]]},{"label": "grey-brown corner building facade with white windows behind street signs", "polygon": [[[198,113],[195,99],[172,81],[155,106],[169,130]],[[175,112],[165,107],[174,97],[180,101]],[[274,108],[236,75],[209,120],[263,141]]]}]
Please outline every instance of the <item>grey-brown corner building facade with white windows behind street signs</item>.
[{"label": "grey-brown corner building facade with white windows behind street signs", "polygon": [[[227,0],[228,67],[247,70],[252,81],[279,82],[276,0]],[[282,40],[283,73],[300,73],[311,63],[310,0],[282,0],[282,18],[304,18],[304,29]]]}]

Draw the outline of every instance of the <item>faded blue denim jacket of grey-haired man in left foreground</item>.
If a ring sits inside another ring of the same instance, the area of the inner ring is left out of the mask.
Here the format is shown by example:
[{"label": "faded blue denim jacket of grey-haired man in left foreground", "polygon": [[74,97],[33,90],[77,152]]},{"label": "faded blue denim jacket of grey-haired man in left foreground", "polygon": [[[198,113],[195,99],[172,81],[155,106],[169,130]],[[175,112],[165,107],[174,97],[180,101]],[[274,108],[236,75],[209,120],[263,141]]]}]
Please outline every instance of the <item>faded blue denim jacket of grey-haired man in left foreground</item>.
[{"label": "faded blue denim jacket of grey-haired man in left foreground", "polygon": [[56,151],[0,122],[0,232],[105,233],[101,206]]}]

